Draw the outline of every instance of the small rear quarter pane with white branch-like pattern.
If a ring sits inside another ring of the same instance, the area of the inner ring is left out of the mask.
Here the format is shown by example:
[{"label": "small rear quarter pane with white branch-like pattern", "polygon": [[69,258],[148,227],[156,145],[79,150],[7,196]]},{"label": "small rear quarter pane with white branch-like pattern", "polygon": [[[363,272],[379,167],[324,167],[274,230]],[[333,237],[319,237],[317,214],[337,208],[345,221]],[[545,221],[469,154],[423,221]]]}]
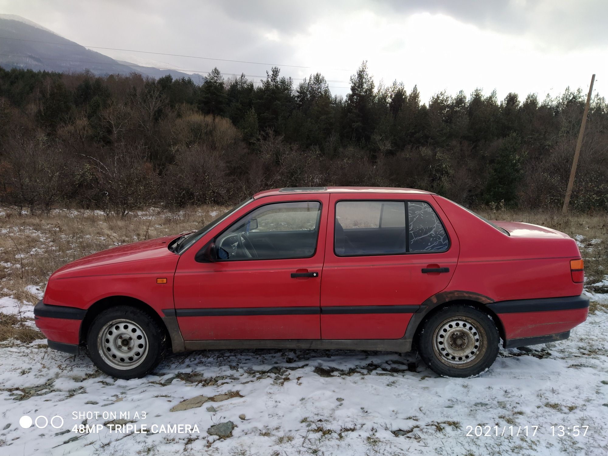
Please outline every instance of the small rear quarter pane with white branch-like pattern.
[{"label": "small rear quarter pane with white branch-like pattern", "polygon": [[445,252],[449,247],[446,230],[430,204],[407,202],[409,221],[408,252]]}]

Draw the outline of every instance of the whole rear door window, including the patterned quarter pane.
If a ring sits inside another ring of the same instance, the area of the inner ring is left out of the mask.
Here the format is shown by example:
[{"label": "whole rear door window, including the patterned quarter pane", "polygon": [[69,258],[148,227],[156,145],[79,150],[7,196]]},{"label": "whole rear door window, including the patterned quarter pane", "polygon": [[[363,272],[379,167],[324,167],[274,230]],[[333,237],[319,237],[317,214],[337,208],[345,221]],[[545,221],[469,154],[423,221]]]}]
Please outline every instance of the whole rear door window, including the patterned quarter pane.
[{"label": "whole rear door window, including the patterned quarter pane", "polygon": [[[406,210],[407,204],[407,210]],[[338,256],[444,252],[449,240],[422,201],[339,201],[334,224]]]}]

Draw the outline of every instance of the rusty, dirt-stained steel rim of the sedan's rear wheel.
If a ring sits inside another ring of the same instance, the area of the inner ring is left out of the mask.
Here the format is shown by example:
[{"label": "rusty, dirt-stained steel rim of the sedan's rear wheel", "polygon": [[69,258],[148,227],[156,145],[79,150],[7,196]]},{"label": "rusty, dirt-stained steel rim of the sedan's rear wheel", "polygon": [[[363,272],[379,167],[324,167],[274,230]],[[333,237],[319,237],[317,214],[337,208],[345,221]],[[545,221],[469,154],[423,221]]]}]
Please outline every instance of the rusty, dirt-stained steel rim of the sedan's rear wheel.
[{"label": "rusty, dirt-stained steel rim of the sedan's rear wheel", "polygon": [[433,334],[435,355],[449,367],[463,369],[477,364],[487,347],[485,331],[469,317],[449,317],[437,326]]}]

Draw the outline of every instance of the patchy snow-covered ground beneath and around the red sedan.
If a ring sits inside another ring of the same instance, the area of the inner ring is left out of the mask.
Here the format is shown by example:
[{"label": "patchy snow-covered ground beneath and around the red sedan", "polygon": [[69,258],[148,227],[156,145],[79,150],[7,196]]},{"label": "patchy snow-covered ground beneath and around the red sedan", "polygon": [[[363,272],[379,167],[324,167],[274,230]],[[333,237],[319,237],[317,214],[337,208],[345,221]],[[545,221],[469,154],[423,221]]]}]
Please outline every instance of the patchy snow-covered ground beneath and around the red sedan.
[{"label": "patchy snow-covered ground beneath and around the red sedan", "polygon": [[[233,350],[123,381],[46,340],[2,342],[0,455],[608,455],[607,284],[590,284],[604,306],[570,339],[501,350],[472,379],[413,354]],[[0,313],[32,304],[0,297]]]}]

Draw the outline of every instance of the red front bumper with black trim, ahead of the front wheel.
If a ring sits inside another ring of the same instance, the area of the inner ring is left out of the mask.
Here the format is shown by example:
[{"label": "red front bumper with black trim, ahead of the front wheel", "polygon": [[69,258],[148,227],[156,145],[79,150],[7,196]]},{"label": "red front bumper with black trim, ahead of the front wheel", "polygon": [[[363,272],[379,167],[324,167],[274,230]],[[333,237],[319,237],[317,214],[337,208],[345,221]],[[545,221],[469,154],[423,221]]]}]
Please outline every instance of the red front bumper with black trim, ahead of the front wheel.
[{"label": "red front bumper with black trim, ahead of the front wheel", "polygon": [[34,307],[36,326],[47,337],[49,348],[78,354],[80,326],[86,310],[47,305],[40,300]]}]

